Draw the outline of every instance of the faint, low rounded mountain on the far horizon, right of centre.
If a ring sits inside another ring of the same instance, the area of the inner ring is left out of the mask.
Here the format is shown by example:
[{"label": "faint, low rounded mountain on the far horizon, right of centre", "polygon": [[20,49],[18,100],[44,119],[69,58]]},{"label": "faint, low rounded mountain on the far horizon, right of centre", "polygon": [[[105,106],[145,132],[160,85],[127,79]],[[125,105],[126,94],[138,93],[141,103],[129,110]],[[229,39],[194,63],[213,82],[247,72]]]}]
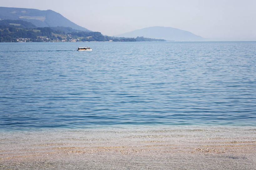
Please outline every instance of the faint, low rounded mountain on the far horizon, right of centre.
[{"label": "faint, low rounded mountain on the far horizon, right of centre", "polygon": [[204,41],[204,38],[191,32],[172,27],[148,27],[124,34],[116,35],[118,37],[137,37],[144,36],[148,38],[165,39],[168,41]]}]

